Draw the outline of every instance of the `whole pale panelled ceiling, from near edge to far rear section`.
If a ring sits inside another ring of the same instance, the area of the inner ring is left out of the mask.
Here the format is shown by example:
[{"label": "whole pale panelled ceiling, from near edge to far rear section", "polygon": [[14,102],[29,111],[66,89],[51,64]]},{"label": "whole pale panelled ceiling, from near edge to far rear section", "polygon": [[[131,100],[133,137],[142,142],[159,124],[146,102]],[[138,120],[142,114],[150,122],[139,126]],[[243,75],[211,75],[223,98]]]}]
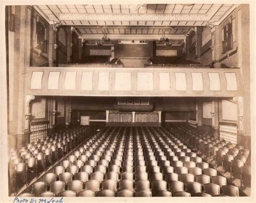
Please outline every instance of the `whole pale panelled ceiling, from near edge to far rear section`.
[{"label": "whole pale panelled ceiling, from near edge to far rear section", "polygon": [[135,35],[139,40],[157,40],[164,34],[170,40],[181,41],[194,26],[218,23],[234,7],[235,4],[34,5],[50,24],[72,25],[80,38],[91,42],[104,33],[112,40]]}]

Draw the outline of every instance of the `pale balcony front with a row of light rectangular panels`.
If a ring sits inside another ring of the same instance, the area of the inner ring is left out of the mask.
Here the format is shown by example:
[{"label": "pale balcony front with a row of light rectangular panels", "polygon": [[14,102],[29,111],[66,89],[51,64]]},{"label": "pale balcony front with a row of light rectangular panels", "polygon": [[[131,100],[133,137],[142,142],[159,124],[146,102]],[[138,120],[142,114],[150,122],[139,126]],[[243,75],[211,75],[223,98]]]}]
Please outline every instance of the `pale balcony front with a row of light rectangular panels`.
[{"label": "pale balcony front with a row of light rectangular panels", "polygon": [[235,97],[240,69],[28,67],[26,94],[45,96]]}]

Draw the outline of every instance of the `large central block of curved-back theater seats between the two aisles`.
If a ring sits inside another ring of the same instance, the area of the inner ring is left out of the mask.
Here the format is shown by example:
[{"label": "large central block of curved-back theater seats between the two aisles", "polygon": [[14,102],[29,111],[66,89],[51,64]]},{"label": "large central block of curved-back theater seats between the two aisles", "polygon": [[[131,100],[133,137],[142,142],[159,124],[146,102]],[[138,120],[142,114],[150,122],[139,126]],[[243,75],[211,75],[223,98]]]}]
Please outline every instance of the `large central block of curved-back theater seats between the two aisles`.
[{"label": "large central block of curved-back theater seats between the two aisles", "polygon": [[238,187],[226,184],[225,177],[162,127],[106,127],[21,195],[239,195]]}]

